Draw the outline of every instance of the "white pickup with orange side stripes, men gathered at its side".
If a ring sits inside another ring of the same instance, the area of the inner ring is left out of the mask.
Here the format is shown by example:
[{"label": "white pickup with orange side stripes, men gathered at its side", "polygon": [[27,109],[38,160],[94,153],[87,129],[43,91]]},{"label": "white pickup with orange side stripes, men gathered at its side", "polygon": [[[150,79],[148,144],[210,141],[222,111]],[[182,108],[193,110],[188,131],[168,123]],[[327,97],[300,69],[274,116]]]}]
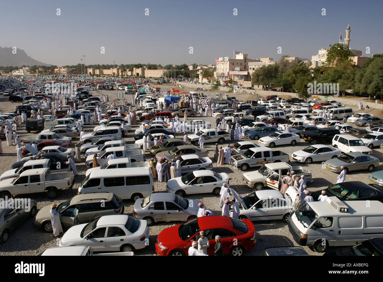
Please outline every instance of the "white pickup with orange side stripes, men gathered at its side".
[{"label": "white pickup with orange side stripes, men gathered at its side", "polygon": [[288,163],[267,163],[259,170],[254,172],[244,173],[243,181],[254,190],[261,190],[265,186],[280,190],[282,179],[287,176],[287,173],[294,171],[296,177],[304,175],[307,182],[312,182],[312,174],[301,166],[291,167]]}]

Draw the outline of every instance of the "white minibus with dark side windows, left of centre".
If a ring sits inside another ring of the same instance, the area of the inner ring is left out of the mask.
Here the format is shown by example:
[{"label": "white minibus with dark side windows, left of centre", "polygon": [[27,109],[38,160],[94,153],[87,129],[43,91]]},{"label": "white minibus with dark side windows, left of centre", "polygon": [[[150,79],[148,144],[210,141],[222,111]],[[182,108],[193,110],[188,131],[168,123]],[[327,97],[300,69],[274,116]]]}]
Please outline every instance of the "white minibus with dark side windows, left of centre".
[{"label": "white minibus with dark side windows, left of centre", "polygon": [[85,177],[77,194],[95,192],[110,192],[121,199],[131,199],[132,201],[145,198],[154,192],[151,168],[95,170]]}]

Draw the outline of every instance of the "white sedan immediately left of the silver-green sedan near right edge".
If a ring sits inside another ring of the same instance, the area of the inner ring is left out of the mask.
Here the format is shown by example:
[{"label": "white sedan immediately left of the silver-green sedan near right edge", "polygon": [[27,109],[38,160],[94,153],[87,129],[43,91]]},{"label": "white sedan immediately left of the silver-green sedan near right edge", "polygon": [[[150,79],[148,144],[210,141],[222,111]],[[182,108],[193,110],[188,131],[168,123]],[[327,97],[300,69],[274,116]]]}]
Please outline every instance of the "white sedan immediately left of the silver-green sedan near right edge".
[{"label": "white sedan immediately left of the silver-green sedan near right edge", "polygon": [[311,145],[303,150],[296,151],[291,155],[293,160],[307,164],[312,162],[324,162],[339,156],[340,150],[338,148],[332,148],[321,144]]}]

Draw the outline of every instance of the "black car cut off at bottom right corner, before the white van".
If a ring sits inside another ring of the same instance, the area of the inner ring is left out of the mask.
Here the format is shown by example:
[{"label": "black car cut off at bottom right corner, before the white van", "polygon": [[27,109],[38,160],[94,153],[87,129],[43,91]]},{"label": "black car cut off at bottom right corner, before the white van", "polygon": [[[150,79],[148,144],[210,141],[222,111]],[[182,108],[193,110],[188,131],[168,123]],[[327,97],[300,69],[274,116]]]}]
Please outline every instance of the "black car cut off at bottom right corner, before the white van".
[{"label": "black car cut off at bottom right corner, before the white van", "polygon": [[326,252],[323,256],[383,256],[383,238],[375,237],[352,247]]}]

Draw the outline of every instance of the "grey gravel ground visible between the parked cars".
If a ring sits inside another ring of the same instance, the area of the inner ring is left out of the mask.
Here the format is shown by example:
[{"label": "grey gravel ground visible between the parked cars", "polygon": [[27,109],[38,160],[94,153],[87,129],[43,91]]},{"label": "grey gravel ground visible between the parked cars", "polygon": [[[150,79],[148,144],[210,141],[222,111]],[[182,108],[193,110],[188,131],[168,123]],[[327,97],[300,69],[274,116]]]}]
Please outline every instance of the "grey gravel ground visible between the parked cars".
[{"label": "grey gravel ground visible between the parked cars", "polygon": [[[160,86],[161,89],[170,89],[171,86]],[[183,89],[183,91],[189,91],[189,89]],[[120,91],[121,92],[121,91]],[[209,92],[209,91],[204,91]],[[99,96],[100,94],[109,94],[110,98],[113,99],[115,96],[115,91],[93,91],[94,96]],[[242,97],[243,96],[243,97]],[[237,95],[237,99],[242,100],[245,97],[247,97],[247,94]],[[256,96],[258,97],[258,96]],[[128,95],[128,98],[131,98],[131,95]],[[254,99],[256,99],[254,97]],[[11,103],[8,101],[8,97],[0,97],[0,110],[2,110],[3,113],[10,112],[14,110],[14,107],[17,106],[19,103]],[[211,124],[215,125],[215,119],[213,117],[197,117],[198,119],[204,119]],[[190,118],[189,118],[190,119]],[[133,125],[131,134],[126,137],[126,143],[134,143],[134,130],[137,129],[139,125]],[[92,132],[93,131],[93,125],[87,125],[84,127],[85,132]],[[17,133],[21,136],[21,138],[26,136],[34,135],[34,133],[27,134],[25,131],[25,124],[21,124],[20,127],[17,129]],[[177,137],[180,137],[182,139],[183,134],[177,134]],[[247,140],[247,139],[244,139]],[[74,143],[78,142],[79,140],[74,140],[72,142],[71,146],[74,147]],[[302,140],[303,141],[303,140]],[[230,142],[233,143],[233,142]],[[1,156],[1,162],[0,162],[0,172],[3,173],[6,170],[10,169],[10,166],[16,162],[16,147],[14,146],[8,146],[7,142],[3,142],[3,150],[4,154]],[[331,145],[331,144],[330,144]],[[291,159],[291,153],[301,150],[308,146],[308,143],[306,142],[299,142],[295,146],[291,145],[285,145],[285,146],[279,146],[276,148],[273,148],[272,150],[281,150],[287,154],[290,155]],[[214,143],[205,143],[205,148],[208,150],[208,157],[213,159],[213,151],[214,151]],[[375,157],[378,157],[380,160],[382,160],[382,153],[383,150],[380,148],[373,150],[373,155]],[[147,158],[149,158],[151,155],[146,155]],[[82,160],[85,162],[85,158],[83,157]],[[330,172],[327,169],[323,169],[321,163],[312,163],[310,165],[291,162],[292,166],[295,165],[301,165],[308,169],[310,172],[313,173],[314,182],[309,183],[308,190],[310,191],[317,191],[322,190],[322,188],[327,188],[327,186],[333,184],[336,182],[336,173]],[[75,178],[75,184],[71,190],[61,190],[59,193],[59,197],[54,200],[55,203],[60,203],[64,200],[67,200],[74,195],[77,194],[77,188],[79,187],[81,181],[85,178],[85,171],[86,167],[84,163],[78,163],[77,164],[77,170],[79,171],[79,175]],[[254,169],[250,169],[254,170]],[[375,170],[381,170],[381,167],[376,168]],[[215,172],[226,172],[228,173],[230,180],[230,186],[234,188],[238,193],[240,193],[242,196],[246,195],[247,193],[252,192],[253,190],[249,188],[248,186],[244,185],[242,182],[242,171],[239,169],[234,169],[232,165],[217,165],[214,164],[213,171]],[[365,183],[369,183],[368,180],[369,173],[367,171],[363,172],[350,172],[346,176],[347,181],[363,181]],[[166,191],[166,183],[164,182],[155,182],[155,192],[162,192]],[[35,194],[28,194],[28,195],[19,195],[19,197],[23,198],[32,198],[38,202],[38,209],[43,208],[46,205],[50,205],[52,201],[48,200],[44,193],[35,193]],[[212,194],[197,194],[197,195],[187,195],[187,198],[197,199],[200,201],[203,201],[205,206],[207,206],[209,209],[211,209],[214,214],[220,215],[221,209],[219,208],[219,196],[214,196]],[[124,200],[125,205],[125,213],[131,214],[133,212],[133,201],[131,200]],[[180,224],[178,222],[176,223],[157,223],[154,224],[154,226],[150,227],[150,237],[149,237],[149,246],[147,246],[145,249],[137,250],[135,252],[136,255],[155,255],[155,239],[157,235],[164,229],[169,226],[173,226],[176,224]],[[278,247],[278,246],[298,246],[296,242],[292,239],[288,227],[286,223],[283,223],[282,220],[280,221],[263,221],[263,222],[254,222],[255,231],[257,232],[257,243],[251,251],[247,252],[246,255],[253,255],[253,256],[259,256],[263,255],[264,249],[267,247]],[[10,233],[10,238],[5,244],[0,244],[0,255],[12,255],[12,256],[29,256],[29,255],[36,255],[39,252],[43,251],[44,249],[48,247],[54,247],[56,246],[57,241],[52,235],[52,233],[46,233],[44,231],[38,230],[34,228],[32,219],[28,219],[21,223],[20,226],[18,226],[12,233]],[[311,251],[308,247],[304,247],[305,251],[307,251],[311,255],[321,255],[319,253]]]}]

